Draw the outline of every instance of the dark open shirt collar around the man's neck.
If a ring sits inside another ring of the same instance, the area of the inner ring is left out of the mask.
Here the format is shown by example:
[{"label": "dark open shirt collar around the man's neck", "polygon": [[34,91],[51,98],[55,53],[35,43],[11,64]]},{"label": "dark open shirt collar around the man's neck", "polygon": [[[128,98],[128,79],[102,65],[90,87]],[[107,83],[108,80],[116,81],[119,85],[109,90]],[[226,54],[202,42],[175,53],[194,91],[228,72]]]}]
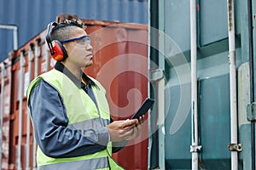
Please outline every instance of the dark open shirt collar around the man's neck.
[{"label": "dark open shirt collar around the man's neck", "polygon": [[[84,82],[81,82],[79,80],[79,78],[75,77],[73,75],[73,73],[71,71],[69,71],[67,69],[67,67],[65,65],[63,65],[61,62],[56,62],[55,64],[55,70],[57,71],[61,71],[63,74],[65,74],[70,80],[72,80],[72,82],[79,88],[84,88],[86,85],[84,84]],[[84,74],[83,71],[82,72],[82,78],[85,82],[87,82],[88,85],[92,85],[92,86],[96,86],[96,83],[93,82],[90,77],[88,77],[87,75]],[[97,86],[96,86],[97,87]]]}]

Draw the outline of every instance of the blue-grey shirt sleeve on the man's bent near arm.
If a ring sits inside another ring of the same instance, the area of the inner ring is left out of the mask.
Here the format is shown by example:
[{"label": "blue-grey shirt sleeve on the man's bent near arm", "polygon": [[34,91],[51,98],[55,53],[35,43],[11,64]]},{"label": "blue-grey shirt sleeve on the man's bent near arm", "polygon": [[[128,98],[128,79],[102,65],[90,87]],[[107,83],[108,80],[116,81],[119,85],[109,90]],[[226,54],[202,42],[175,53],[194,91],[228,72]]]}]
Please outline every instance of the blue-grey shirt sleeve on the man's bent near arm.
[{"label": "blue-grey shirt sleeve on the man's bent near arm", "polygon": [[[84,156],[107,148],[107,127],[99,131],[85,129],[83,132],[67,127],[67,111],[61,96],[43,79],[32,89],[28,107],[35,139],[46,156]],[[89,136],[93,136],[93,140]]]}]

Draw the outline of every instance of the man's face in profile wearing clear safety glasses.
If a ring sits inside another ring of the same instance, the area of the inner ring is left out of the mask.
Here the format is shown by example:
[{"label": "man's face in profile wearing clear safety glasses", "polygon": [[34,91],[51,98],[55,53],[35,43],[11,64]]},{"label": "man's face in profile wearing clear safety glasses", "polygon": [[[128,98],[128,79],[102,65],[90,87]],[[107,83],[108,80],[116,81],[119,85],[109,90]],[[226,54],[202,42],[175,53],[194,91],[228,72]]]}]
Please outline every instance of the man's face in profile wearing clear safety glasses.
[{"label": "man's face in profile wearing clear safety glasses", "polygon": [[[73,65],[73,67],[84,68],[93,64],[92,61],[92,47],[90,46],[90,41],[88,39],[87,33],[82,29],[77,27],[75,29],[75,34],[70,38],[78,38],[73,42],[67,42],[63,45],[67,49],[68,57],[64,61],[68,65]],[[83,37],[79,39],[79,37]]]}]

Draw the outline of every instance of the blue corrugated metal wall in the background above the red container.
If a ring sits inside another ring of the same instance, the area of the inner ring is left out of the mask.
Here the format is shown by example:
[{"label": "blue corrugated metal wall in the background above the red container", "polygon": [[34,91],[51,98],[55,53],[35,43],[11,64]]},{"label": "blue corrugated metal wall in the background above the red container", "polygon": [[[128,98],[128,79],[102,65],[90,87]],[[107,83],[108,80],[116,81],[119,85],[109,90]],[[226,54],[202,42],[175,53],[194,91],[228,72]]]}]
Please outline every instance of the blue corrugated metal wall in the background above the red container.
[{"label": "blue corrugated metal wall in the background above the red container", "polygon": [[[0,0],[0,24],[19,26],[19,47],[59,14],[82,19],[147,24],[148,0]],[[0,61],[13,49],[12,32],[0,29]]]}]

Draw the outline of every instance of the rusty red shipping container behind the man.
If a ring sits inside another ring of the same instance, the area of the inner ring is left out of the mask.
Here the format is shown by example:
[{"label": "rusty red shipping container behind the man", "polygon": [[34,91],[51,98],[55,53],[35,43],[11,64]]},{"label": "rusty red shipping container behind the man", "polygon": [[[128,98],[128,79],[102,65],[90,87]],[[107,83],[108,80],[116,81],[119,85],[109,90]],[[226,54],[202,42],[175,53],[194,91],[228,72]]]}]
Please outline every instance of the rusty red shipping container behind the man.
[{"label": "rusty red shipping container behind the man", "polygon": [[[57,20],[67,16],[61,14]],[[94,65],[84,72],[106,88],[113,119],[130,118],[148,97],[148,27],[102,20],[82,21],[94,48]],[[1,63],[2,169],[36,167],[36,144],[26,106],[26,89],[34,77],[55,65],[44,42],[45,33],[45,30],[40,32]],[[125,169],[147,169],[147,135],[145,122],[143,134],[113,154],[114,159]]]}]

